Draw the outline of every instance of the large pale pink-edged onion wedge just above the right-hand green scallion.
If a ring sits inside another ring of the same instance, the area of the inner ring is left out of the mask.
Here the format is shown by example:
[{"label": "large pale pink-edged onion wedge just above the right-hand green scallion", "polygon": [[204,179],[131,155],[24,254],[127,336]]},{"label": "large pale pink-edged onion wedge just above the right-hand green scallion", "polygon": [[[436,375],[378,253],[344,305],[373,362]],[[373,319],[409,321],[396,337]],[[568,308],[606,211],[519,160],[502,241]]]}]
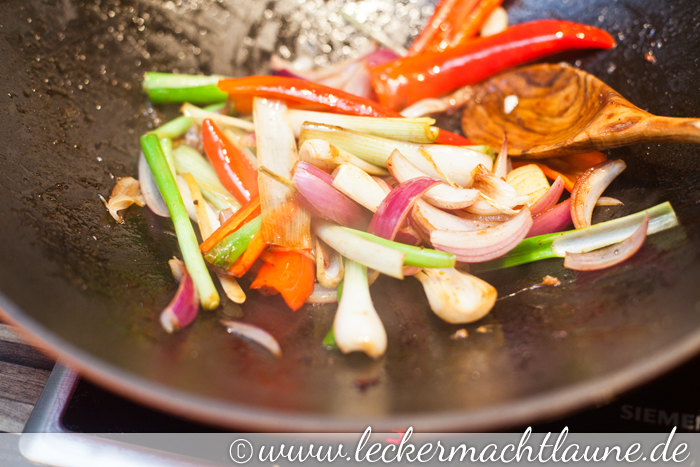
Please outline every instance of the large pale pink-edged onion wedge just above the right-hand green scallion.
[{"label": "large pale pink-edged onion wedge just above the right-hand green scallion", "polygon": [[496,227],[470,232],[435,230],[430,233],[430,242],[437,250],[455,254],[458,261],[480,263],[498,258],[515,248],[530,227],[530,210],[524,207],[517,216]]}]

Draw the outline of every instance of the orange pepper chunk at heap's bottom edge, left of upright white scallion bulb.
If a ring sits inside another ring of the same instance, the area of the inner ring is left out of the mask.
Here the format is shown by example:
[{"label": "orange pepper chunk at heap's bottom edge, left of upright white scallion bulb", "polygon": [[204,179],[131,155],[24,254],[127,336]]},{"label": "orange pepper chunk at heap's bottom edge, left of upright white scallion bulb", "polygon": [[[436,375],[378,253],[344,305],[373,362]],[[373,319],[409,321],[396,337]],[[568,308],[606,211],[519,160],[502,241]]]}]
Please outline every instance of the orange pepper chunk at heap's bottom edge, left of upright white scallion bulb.
[{"label": "orange pepper chunk at heap's bottom edge, left of upright white scallion bulb", "polygon": [[295,250],[275,251],[274,263],[265,263],[250,285],[251,289],[270,288],[280,294],[293,311],[304,305],[314,290],[314,262]]}]

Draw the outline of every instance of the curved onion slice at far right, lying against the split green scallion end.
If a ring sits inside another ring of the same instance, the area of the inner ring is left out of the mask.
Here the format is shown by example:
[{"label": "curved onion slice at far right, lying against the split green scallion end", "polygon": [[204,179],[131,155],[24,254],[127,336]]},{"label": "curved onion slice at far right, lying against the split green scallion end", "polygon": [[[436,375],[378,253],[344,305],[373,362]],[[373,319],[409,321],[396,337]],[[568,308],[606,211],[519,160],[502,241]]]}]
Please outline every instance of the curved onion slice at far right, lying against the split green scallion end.
[{"label": "curved onion slice at far right, lying against the split green scallion end", "polygon": [[615,245],[588,253],[566,253],[564,267],[576,271],[595,271],[620,264],[634,255],[644,244],[649,227],[649,213],[644,214],[644,220],[627,239]]}]

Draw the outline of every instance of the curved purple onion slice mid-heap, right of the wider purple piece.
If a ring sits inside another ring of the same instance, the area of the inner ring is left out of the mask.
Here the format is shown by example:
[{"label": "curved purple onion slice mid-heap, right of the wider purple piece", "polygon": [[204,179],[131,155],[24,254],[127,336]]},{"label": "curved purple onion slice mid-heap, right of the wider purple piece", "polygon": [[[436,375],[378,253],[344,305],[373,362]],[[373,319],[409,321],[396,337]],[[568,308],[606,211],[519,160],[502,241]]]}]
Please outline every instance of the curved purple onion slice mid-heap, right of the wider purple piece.
[{"label": "curved purple onion slice mid-heap, right of the wider purple piece", "polygon": [[439,183],[439,180],[429,177],[414,178],[400,183],[379,205],[367,231],[378,237],[393,240],[416,200]]}]

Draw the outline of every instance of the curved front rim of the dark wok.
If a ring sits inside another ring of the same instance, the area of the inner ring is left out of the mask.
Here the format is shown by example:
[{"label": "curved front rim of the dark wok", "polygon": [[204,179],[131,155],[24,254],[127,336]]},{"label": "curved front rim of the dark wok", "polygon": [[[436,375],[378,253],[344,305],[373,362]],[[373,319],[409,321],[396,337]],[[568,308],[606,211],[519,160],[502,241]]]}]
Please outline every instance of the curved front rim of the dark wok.
[{"label": "curved front rim of the dark wok", "polygon": [[222,428],[264,432],[361,433],[368,426],[390,432],[413,426],[424,433],[508,430],[610,401],[654,379],[700,353],[700,330],[666,346],[653,356],[579,383],[481,409],[418,412],[382,418],[309,415],[250,407],[174,389],[125,371],[74,346],[30,317],[0,292],[0,318],[18,327],[21,337],[59,364],[122,397],[150,407]]}]

